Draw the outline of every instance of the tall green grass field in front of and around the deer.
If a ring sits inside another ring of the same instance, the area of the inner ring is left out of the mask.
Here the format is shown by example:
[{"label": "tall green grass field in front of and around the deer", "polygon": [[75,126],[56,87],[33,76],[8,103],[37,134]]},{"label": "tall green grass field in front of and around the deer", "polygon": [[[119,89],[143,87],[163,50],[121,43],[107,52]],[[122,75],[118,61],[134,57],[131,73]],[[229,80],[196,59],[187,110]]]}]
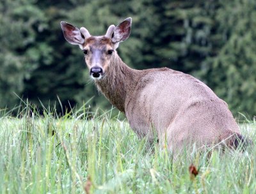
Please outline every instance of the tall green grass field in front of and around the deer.
[{"label": "tall green grass field in front of and around the deer", "polygon": [[[0,116],[1,193],[256,193],[255,146],[173,160],[110,112],[90,120],[84,108],[62,117],[29,105],[19,112]],[[255,139],[255,121],[241,130]]]}]

